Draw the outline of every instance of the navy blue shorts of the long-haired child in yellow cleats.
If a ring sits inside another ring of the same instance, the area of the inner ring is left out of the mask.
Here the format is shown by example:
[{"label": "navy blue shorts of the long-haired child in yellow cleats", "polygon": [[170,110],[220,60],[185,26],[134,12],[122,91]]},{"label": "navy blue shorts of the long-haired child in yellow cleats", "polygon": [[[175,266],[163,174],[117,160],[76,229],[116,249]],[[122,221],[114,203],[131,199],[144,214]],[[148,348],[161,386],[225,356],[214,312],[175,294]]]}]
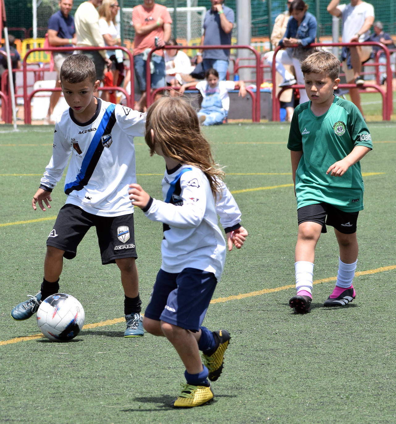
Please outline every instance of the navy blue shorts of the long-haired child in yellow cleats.
[{"label": "navy blue shorts of the long-haired child in yellow cleats", "polygon": [[212,272],[184,268],[180,273],[159,270],[145,317],[198,331],[215,291]]}]

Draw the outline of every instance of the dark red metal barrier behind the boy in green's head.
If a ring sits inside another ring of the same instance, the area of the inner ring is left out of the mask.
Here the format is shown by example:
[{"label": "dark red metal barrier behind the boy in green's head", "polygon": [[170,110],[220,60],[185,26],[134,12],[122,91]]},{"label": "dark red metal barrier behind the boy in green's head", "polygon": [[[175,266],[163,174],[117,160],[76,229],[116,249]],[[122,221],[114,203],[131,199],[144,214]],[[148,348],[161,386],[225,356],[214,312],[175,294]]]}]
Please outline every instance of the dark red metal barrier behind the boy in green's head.
[{"label": "dark red metal barrier behind the boy in green's head", "polygon": [[[362,45],[368,45],[368,46],[373,46],[373,45],[377,45],[379,47],[382,48],[382,50],[384,50],[385,55],[386,55],[386,67],[387,67],[387,79],[388,81],[392,80],[392,70],[390,68],[390,53],[388,50],[388,47],[386,47],[384,44],[379,43],[379,42],[375,42],[375,41],[370,41],[370,42],[364,42],[364,43],[312,43],[310,44],[310,47],[331,47],[331,46],[335,46],[335,47],[353,47],[353,46],[362,46]],[[297,45],[295,45],[295,47],[297,47]],[[281,47],[278,46],[276,47],[276,49],[274,50],[274,54],[273,57],[276,57],[276,53],[278,53],[278,51],[281,50]],[[275,87],[275,73],[276,73],[276,68],[275,68],[275,60],[272,61],[272,87],[273,87],[273,93],[275,92],[274,87]],[[377,84],[364,84],[363,86],[358,86],[356,84],[339,84],[338,85],[339,88],[359,88],[359,89],[364,89],[364,88],[373,88],[376,91],[378,91],[381,96],[382,96],[382,119],[384,121],[390,121],[390,117],[392,114],[392,110],[393,110],[393,98],[392,98],[392,84],[387,84],[386,87],[386,92],[385,90],[383,90],[381,88],[381,86],[377,85]],[[280,117],[279,117],[279,109],[280,109],[280,105],[279,105],[279,96],[280,94],[284,91],[284,89],[288,89],[288,88],[298,88],[298,89],[304,89],[305,87],[303,85],[298,85],[298,84],[294,84],[291,86],[287,86],[287,87],[282,87],[282,90],[279,91],[278,96],[273,95],[272,96],[272,120],[273,121],[279,121]]]}]

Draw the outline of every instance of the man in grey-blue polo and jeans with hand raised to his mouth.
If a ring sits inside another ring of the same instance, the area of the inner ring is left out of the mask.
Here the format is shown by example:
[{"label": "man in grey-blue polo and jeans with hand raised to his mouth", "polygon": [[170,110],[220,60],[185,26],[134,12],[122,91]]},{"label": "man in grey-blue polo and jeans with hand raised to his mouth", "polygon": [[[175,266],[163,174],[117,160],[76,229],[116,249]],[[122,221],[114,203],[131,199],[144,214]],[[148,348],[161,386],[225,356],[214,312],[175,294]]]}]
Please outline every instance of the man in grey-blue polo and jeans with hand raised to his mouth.
[{"label": "man in grey-blue polo and jeans with hand raised to his mouth", "polygon": [[[205,15],[201,45],[230,45],[231,32],[235,21],[234,11],[223,6],[224,0],[210,1],[212,8]],[[219,81],[226,79],[230,56],[229,49],[204,49],[197,54],[197,64],[203,61],[205,71],[214,68],[219,74]]]}]

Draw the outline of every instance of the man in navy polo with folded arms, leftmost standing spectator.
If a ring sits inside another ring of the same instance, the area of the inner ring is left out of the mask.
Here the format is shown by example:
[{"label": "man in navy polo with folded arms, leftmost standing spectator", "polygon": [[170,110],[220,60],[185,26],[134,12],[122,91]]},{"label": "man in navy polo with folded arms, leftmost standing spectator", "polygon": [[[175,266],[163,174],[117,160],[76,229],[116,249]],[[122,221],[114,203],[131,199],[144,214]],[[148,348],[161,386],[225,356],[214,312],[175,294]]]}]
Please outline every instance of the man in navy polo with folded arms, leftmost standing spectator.
[{"label": "man in navy polo with folded arms, leftmost standing spectator", "polygon": [[[55,87],[60,87],[60,72],[64,59],[73,54],[73,46],[77,44],[77,36],[75,35],[74,18],[70,16],[73,7],[73,0],[59,0],[59,11],[54,13],[48,20],[48,42],[53,47],[67,47],[71,50],[65,52],[54,52],[53,62],[54,68],[58,71]],[[50,124],[51,115],[61,97],[60,91],[54,91],[50,97],[50,107],[48,108],[46,124]]]}]

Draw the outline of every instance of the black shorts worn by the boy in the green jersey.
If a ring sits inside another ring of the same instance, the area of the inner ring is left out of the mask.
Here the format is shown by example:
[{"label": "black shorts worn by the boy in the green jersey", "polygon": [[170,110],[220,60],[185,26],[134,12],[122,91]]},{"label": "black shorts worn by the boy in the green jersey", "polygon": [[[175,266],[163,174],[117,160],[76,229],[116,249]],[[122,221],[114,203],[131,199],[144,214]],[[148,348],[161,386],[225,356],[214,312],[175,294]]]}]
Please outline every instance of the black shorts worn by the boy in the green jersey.
[{"label": "black shorts worn by the boy in the green jersey", "polygon": [[359,211],[343,212],[328,203],[317,203],[297,209],[298,225],[303,222],[317,222],[322,226],[322,233],[327,232],[327,224],[342,234],[353,234],[357,229],[358,215]]}]

